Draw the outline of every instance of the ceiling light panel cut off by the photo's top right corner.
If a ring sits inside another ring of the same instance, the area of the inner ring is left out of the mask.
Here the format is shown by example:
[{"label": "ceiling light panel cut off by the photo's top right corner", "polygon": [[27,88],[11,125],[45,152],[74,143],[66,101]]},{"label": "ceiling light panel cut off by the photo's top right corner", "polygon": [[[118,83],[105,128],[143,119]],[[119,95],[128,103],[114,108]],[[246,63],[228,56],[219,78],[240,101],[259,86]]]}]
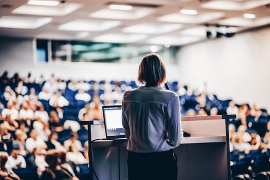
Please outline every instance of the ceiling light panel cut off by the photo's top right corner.
[{"label": "ceiling light panel cut off by the photo's top right corner", "polygon": [[254,0],[254,1],[211,1],[201,5],[206,9],[221,9],[242,11],[257,8],[270,3],[270,0]]}]

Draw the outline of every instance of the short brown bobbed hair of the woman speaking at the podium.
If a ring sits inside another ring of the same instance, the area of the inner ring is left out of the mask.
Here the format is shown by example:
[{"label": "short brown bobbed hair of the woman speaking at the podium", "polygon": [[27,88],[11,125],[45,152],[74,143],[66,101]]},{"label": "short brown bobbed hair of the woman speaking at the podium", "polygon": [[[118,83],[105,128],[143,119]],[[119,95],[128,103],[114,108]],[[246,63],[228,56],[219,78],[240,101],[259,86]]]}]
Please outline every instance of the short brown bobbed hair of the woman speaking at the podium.
[{"label": "short brown bobbed hair of the woman speaking at the podium", "polygon": [[145,56],[139,65],[138,82],[149,85],[159,85],[165,82],[166,68],[157,53]]}]

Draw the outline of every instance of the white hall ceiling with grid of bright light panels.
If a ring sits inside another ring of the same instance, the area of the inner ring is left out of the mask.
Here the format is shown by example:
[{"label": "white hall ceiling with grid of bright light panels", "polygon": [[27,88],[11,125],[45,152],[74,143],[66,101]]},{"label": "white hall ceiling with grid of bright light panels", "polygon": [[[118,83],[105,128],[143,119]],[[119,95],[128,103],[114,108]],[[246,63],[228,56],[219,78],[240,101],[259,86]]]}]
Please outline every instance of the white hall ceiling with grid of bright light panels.
[{"label": "white hall ceiling with grid of bright light panels", "polygon": [[[109,9],[112,4],[132,10]],[[270,0],[66,0],[57,6],[0,0],[0,35],[10,37],[185,45],[205,40],[206,29],[214,34],[217,24],[233,26],[222,32],[268,25]]]}]

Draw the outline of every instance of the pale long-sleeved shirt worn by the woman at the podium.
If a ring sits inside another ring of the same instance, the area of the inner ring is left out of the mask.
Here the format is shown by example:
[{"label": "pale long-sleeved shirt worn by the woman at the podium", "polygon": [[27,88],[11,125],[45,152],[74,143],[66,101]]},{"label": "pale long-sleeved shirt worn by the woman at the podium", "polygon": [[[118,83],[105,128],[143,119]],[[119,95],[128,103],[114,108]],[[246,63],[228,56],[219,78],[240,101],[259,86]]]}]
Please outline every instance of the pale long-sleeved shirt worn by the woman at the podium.
[{"label": "pale long-sleeved shirt worn by the woman at the podium", "polygon": [[122,101],[122,124],[129,151],[160,152],[177,147],[183,139],[179,96],[160,86],[127,91]]}]

